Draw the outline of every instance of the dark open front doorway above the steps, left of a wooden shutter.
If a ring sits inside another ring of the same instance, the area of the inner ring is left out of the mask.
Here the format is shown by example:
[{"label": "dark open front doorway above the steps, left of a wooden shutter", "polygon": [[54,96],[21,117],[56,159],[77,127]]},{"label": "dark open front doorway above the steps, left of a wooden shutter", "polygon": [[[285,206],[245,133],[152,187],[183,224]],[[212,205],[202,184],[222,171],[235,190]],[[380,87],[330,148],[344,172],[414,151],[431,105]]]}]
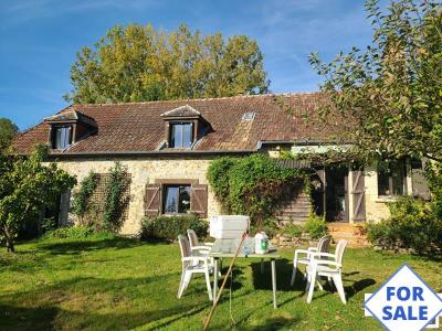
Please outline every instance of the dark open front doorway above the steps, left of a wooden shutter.
[{"label": "dark open front doorway above the steps, left of a wooden shutter", "polygon": [[348,222],[348,167],[325,169],[325,217],[329,222]]}]

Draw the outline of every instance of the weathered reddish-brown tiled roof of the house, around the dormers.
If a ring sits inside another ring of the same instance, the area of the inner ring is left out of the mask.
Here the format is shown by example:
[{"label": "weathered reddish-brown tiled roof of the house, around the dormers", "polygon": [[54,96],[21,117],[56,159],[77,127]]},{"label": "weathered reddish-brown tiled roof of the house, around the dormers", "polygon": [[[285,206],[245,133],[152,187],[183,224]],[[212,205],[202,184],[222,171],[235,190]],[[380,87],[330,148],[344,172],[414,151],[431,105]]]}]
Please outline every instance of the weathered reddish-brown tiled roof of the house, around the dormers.
[{"label": "weathered reddish-brown tiled roof of the house, around the dormers", "polygon": [[[60,111],[59,116],[72,110],[80,111],[93,118],[98,130],[75,142],[63,153],[158,151],[165,140],[161,115],[168,111],[191,111],[192,115],[198,111],[210,124],[211,130],[194,145],[196,151],[252,151],[259,141],[327,140],[336,132],[329,128],[312,126],[304,118],[306,114],[307,117],[308,114],[314,116],[315,108],[325,103],[327,97],[324,94],[308,93],[72,105]],[[243,120],[245,113],[255,113],[254,119]],[[43,121],[21,134],[14,141],[15,150],[27,153],[35,143],[46,142],[49,128],[49,124]]]}]

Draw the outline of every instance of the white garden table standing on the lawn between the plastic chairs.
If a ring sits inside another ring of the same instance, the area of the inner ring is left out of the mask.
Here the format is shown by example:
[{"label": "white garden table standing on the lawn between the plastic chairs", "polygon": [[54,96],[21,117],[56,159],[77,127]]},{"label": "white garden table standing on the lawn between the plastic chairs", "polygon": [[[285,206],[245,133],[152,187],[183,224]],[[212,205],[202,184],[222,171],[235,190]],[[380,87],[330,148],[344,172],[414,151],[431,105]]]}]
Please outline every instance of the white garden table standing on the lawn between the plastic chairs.
[{"label": "white garden table standing on the lawn between the plastic chairs", "polygon": [[[233,258],[238,246],[240,245],[241,238],[236,239],[215,239],[209,256],[213,257],[213,298],[217,298],[217,286],[218,286],[218,266],[220,258]],[[245,247],[245,248],[244,248]],[[267,254],[256,254],[254,252],[255,241],[253,237],[246,237],[238,254],[238,258],[260,258],[261,259],[261,274],[264,274],[264,260],[270,259],[272,265],[272,289],[273,289],[273,308],[276,307],[276,258],[281,258],[277,249],[270,246]]]}]

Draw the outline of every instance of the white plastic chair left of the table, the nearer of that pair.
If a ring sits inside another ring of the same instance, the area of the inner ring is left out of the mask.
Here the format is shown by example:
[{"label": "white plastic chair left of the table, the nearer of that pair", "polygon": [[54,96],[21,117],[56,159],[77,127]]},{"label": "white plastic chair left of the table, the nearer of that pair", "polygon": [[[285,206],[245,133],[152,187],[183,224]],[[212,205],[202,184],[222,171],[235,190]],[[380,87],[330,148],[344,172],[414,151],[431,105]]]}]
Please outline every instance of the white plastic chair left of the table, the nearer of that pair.
[{"label": "white plastic chair left of the table, the nearer of that pair", "polygon": [[202,255],[192,255],[188,238],[183,235],[178,236],[178,243],[181,250],[182,273],[178,288],[178,299],[181,298],[193,274],[204,274],[206,285],[209,293],[209,300],[212,301],[212,288],[210,286],[210,265],[209,257]]}]

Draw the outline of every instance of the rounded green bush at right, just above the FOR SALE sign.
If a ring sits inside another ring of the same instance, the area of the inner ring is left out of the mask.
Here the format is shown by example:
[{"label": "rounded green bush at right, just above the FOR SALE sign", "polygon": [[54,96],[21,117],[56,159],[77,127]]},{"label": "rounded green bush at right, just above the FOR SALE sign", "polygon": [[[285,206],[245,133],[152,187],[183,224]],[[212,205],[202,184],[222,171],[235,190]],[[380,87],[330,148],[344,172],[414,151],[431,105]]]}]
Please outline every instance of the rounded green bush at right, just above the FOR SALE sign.
[{"label": "rounded green bush at right, just above the FOR SALE sign", "polygon": [[390,217],[367,226],[369,241],[383,249],[408,248],[423,253],[442,246],[442,222],[433,205],[403,196],[389,204]]}]

